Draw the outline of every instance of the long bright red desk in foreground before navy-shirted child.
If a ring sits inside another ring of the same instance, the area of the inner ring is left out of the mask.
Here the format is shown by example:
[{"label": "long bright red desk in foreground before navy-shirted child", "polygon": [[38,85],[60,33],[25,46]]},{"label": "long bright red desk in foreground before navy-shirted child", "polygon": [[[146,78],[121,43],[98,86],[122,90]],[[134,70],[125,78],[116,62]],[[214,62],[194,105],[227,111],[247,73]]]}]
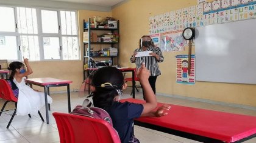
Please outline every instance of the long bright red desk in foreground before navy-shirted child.
[{"label": "long bright red desk in foreground before navy-shirted child", "polygon": [[[120,102],[143,103],[140,99]],[[158,103],[158,106],[163,105]],[[256,136],[256,117],[171,105],[161,118],[141,117],[135,125],[200,142],[243,142]]]}]

